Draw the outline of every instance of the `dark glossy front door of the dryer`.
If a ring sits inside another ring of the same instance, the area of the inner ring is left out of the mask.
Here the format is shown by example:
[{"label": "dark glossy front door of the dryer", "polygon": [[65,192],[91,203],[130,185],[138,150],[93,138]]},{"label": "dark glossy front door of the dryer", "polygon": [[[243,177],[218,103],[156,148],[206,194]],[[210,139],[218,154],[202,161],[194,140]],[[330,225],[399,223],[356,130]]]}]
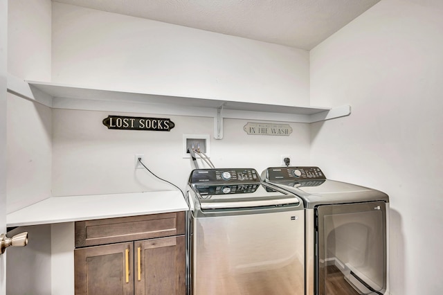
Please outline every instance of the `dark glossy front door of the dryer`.
[{"label": "dark glossy front door of the dryer", "polygon": [[318,294],[383,294],[386,290],[386,204],[318,206]]}]

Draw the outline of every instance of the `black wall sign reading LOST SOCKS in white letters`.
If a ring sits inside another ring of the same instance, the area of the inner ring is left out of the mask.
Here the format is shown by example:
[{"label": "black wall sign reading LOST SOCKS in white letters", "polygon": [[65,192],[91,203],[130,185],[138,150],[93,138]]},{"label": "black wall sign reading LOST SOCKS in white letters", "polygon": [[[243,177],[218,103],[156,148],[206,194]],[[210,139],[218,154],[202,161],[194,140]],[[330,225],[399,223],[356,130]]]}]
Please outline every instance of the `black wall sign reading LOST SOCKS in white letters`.
[{"label": "black wall sign reading LOST SOCKS in white letters", "polygon": [[175,124],[169,118],[108,116],[103,119],[108,129],[170,131]]}]

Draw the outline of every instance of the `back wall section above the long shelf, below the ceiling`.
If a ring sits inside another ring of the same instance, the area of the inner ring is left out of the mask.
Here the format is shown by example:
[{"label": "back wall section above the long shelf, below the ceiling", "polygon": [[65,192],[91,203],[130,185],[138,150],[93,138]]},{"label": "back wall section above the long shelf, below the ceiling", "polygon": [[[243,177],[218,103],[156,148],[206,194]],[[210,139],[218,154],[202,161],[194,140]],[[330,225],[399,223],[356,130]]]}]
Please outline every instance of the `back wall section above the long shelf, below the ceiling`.
[{"label": "back wall section above the long shelf, below the ceiling", "polygon": [[52,80],[85,87],[309,105],[309,53],[53,3]]}]

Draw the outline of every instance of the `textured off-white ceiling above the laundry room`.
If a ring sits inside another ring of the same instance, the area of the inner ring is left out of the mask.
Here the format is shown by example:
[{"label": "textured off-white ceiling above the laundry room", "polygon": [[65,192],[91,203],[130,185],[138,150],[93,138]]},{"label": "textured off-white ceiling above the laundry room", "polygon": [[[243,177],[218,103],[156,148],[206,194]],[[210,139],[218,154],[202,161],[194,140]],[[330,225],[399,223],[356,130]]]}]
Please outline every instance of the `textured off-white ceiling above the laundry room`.
[{"label": "textured off-white ceiling above the laundry room", "polygon": [[310,50],[380,0],[53,0]]}]

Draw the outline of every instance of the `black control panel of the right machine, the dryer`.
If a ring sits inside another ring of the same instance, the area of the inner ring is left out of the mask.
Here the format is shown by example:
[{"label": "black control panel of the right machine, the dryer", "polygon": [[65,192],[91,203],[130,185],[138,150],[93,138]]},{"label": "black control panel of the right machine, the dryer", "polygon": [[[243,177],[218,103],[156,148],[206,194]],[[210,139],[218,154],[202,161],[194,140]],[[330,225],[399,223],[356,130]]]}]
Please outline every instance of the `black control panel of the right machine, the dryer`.
[{"label": "black control panel of the right machine, the dryer", "polygon": [[270,181],[326,179],[320,168],[314,166],[268,168],[266,177]]}]

